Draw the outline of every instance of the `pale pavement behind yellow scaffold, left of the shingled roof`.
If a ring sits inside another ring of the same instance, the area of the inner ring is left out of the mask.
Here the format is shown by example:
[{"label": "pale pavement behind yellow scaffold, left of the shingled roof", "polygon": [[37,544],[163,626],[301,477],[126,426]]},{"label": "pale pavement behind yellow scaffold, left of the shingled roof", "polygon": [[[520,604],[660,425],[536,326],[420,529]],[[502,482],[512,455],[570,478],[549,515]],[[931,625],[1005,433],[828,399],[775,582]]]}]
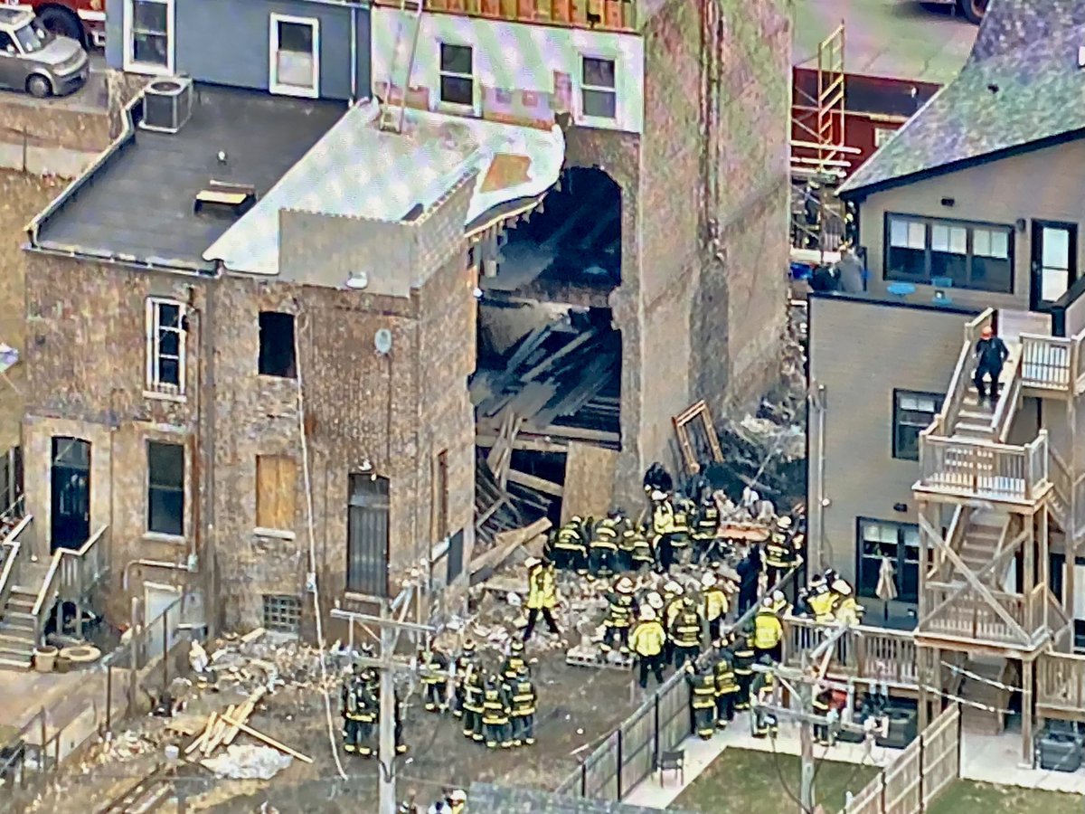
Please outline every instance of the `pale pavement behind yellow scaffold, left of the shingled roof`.
[{"label": "pale pavement behind yellow scaffold, left of the shingled roof", "polygon": [[843,22],[846,73],[945,85],[979,30],[953,8],[920,0],[795,0],[792,62],[817,67],[818,43]]}]

